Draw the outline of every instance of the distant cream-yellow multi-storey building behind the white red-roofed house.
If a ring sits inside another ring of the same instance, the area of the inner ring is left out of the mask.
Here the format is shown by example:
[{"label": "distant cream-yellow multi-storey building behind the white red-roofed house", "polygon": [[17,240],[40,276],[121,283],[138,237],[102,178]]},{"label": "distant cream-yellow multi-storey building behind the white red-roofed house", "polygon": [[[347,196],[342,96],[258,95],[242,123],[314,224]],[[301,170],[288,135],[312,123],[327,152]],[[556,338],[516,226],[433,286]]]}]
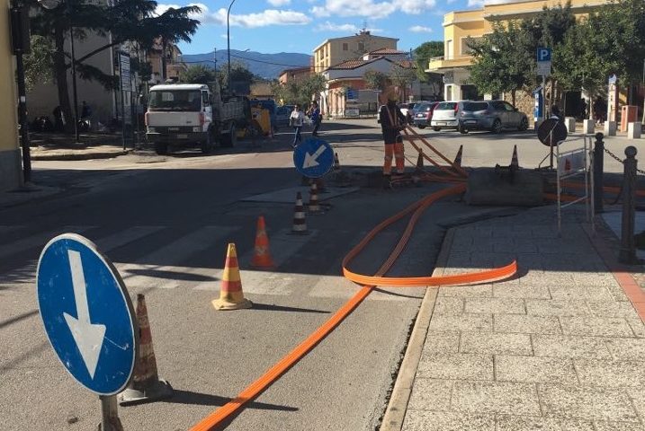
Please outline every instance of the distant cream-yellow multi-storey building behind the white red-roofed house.
[{"label": "distant cream-yellow multi-storey building behind the white red-roofed house", "polygon": [[398,39],[374,36],[366,30],[354,36],[327,39],[314,48],[314,70],[319,74],[328,67],[363,57],[365,53],[377,49],[396,49],[398,41]]}]

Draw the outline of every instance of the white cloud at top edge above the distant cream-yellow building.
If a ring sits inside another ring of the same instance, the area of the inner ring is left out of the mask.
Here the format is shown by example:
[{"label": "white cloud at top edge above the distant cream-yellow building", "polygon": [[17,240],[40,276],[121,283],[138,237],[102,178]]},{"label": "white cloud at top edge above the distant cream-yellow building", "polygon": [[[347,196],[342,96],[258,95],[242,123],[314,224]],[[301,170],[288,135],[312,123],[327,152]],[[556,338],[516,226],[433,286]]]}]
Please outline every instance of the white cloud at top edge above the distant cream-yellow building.
[{"label": "white cloud at top edge above the distant cream-yellow building", "polygon": [[408,14],[425,13],[434,8],[435,4],[436,0],[325,0],[323,5],[312,7],[311,13],[318,17],[369,16],[371,18],[385,18],[397,11]]}]

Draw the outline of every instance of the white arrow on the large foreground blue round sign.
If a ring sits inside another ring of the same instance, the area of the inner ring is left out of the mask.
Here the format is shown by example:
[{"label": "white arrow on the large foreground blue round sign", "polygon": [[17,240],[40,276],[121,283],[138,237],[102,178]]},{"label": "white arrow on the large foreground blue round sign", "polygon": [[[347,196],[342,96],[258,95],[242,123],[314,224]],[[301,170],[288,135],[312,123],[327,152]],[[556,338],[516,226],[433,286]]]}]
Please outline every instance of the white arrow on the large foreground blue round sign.
[{"label": "white arrow on the large foreground blue round sign", "polygon": [[87,286],[85,286],[85,274],[83,273],[83,262],[81,253],[78,251],[67,251],[69,257],[69,268],[72,271],[72,285],[74,286],[74,299],[76,301],[76,316],[63,312],[67,326],[72,332],[76,346],[81,352],[85,367],[90,377],[94,379],[96,365],[101,355],[103,338],[105,336],[105,325],[92,324],[90,321],[90,309],[87,303]]}]

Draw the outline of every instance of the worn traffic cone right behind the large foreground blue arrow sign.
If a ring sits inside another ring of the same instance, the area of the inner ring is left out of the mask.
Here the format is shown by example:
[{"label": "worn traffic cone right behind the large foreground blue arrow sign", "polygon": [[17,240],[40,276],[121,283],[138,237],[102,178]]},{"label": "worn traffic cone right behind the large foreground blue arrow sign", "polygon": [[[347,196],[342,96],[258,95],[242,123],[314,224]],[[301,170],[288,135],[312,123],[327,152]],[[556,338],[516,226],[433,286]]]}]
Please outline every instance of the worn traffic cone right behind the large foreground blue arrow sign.
[{"label": "worn traffic cone right behind the large foreground blue arrow sign", "polygon": [[137,295],[137,323],[139,325],[139,354],[134,363],[132,380],[119,394],[119,404],[129,406],[155,400],[163,400],[173,395],[173,388],[165,380],[159,380],[157,359],[152,347],[152,332],[148,321],[146,296]]}]

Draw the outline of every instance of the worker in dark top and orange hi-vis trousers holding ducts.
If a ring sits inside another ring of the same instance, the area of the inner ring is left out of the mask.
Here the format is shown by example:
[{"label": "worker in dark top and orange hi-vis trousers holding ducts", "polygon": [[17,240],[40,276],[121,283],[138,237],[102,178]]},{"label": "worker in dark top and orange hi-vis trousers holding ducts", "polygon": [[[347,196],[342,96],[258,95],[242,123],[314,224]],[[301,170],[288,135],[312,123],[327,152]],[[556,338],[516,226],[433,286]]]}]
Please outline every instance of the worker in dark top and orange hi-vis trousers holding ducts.
[{"label": "worker in dark top and orange hi-vis trousers holding ducts", "polygon": [[392,173],[392,156],[396,160],[397,173],[403,174],[405,159],[403,156],[403,136],[401,130],[405,128],[406,118],[399,110],[397,101],[399,93],[391,89],[384,94],[386,104],[381,106],[379,119],[385,143],[385,161],[383,162],[383,176],[390,179]]}]

